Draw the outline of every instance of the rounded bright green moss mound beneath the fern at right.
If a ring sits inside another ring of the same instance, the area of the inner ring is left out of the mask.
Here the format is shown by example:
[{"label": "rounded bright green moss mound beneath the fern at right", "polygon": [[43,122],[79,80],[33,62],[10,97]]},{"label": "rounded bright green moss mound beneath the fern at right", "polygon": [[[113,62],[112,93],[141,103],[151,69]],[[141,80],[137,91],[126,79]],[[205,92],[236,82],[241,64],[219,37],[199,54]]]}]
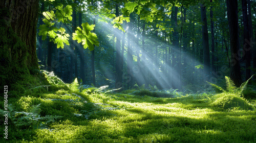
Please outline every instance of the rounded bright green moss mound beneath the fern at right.
[{"label": "rounded bright green moss mound beneath the fern at right", "polygon": [[247,100],[239,97],[237,94],[232,93],[221,93],[217,95],[216,101],[211,105],[223,109],[239,108],[243,110],[252,110],[253,107],[248,103]]}]

